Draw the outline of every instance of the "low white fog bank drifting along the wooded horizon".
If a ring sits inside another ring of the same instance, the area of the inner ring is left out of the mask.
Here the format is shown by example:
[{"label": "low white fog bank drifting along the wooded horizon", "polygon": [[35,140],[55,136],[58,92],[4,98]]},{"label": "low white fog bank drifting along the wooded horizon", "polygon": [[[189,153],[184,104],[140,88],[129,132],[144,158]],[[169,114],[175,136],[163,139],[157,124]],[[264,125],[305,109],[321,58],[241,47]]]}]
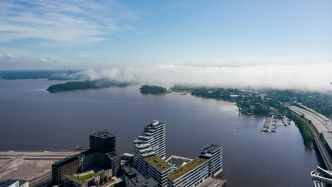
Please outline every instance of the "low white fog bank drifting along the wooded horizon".
[{"label": "low white fog bank drifting along the wooded horizon", "polygon": [[194,85],[252,89],[332,90],[332,63],[256,65],[243,67],[196,67],[161,64],[145,67],[87,69],[70,75],[87,79],[115,79],[160,86]]}]

